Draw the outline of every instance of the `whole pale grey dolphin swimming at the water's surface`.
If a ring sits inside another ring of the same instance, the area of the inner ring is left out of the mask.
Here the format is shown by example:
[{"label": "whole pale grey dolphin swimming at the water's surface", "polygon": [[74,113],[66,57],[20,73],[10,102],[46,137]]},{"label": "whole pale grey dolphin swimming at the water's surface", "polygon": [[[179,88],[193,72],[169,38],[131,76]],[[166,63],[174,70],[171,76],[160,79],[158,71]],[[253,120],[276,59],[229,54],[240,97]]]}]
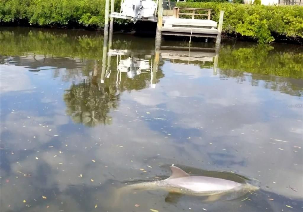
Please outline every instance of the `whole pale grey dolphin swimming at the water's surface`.
[{"label": "whole pale grey dolphin swimming at the water's surface", "polygon": [[248,183],[238,183],[215,177],[190,176],[176,166],[170,166],[171,176],[165,180],[130,184],[122,190],[158,190],[168,191],[170,194],[185,194],[194,196],[208,196],[206,200],[231,200],[245,195],[259,188]]}]

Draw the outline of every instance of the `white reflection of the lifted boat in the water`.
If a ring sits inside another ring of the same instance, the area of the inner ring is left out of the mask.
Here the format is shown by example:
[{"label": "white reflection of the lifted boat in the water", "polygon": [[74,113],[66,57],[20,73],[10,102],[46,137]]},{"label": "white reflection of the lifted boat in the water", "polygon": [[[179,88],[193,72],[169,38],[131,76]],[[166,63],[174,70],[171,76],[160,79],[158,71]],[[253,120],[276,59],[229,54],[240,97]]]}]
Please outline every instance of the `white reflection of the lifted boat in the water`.
[{"label": "white reflection of the lifted boat in the water", "polygon": [[126,59],[120,59],[118,71],[126,72],[128,78],[134,78],[142,72],[150,71],[149,60],[129,56]]}]

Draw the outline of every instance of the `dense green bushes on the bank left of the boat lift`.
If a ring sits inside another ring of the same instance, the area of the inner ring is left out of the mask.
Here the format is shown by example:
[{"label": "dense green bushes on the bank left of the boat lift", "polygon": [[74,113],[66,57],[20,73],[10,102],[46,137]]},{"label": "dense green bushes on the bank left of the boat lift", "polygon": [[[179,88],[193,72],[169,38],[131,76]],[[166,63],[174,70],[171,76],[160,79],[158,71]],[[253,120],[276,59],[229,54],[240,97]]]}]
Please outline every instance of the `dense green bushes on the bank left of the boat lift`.
[{"label": "dense green bushes on the bank left of the boat lift", "polygon": [[[120,1],[115,1],[115,8],[120,8]],[[105,0],[1,0],[0,14],[2,23],[97,28],[104,26]]]}]

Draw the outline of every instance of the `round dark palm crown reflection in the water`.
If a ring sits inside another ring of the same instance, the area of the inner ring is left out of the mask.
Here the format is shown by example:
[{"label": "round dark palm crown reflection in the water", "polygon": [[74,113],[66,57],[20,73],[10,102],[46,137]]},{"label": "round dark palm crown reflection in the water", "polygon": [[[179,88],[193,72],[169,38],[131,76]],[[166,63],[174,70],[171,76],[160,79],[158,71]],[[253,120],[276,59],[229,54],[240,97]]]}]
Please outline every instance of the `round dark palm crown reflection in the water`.
[{"label": "round dark palm crown reflection in the water", "polygon": [[65,92],[63,100],[67,106],[67,114],[75,123],[94,127],[112,123],[108,113],[118,107],[119,92],[114,85],[101,86],[88,79],[79,84],[72,84]]}]

